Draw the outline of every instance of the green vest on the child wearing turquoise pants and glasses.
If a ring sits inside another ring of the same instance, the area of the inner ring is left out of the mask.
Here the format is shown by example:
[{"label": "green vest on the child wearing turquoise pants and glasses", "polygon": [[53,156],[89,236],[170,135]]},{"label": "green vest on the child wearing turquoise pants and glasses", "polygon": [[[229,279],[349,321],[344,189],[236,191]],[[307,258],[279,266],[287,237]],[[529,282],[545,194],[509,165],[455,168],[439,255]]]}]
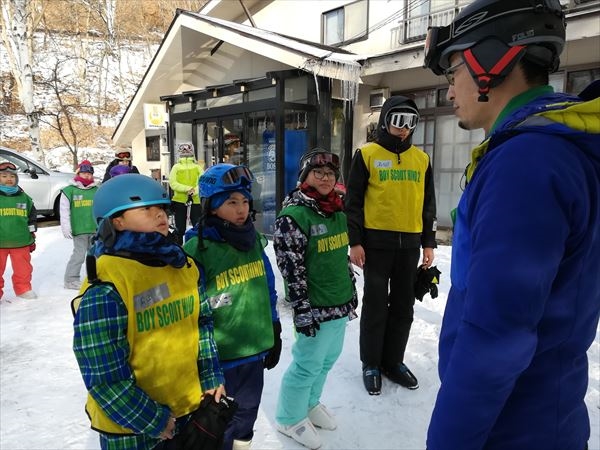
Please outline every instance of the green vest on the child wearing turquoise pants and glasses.
[{"label": "green vest on the child wearing turquoise pants and glasses", "polygon": [[283,208],[279,217],[294,219],[308,237],[306,266],[308,298],[312,306],[339,306],[352,299],[352,280],[348,272],[348,226],[346,215],[329,217],[305,206]]}]

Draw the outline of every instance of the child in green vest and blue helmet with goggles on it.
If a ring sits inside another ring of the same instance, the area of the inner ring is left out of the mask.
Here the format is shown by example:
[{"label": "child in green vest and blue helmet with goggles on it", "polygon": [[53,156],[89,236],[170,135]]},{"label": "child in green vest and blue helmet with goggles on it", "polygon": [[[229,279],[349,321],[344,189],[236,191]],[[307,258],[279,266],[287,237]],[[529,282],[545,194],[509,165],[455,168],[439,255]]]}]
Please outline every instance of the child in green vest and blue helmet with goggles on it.
[{"label": "child in green vest and blue helmet with goggles on it", "polygon": [[199,181],[200,222],[185,251],[204,274],[215,340],[227,393],[239,406],[225,432],[223,450],[247,449],[263,390],[264,368],[281,353],[281,325],[267,240],[251,217],[253,176],[244,166],[217,164]]}]

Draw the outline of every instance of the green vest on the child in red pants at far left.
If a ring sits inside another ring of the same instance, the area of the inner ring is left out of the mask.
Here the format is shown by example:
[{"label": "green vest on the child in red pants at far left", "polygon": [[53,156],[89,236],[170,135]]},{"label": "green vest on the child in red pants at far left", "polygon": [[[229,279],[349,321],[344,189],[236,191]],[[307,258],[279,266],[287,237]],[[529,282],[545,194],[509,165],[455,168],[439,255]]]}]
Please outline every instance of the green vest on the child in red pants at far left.
[{"label": "green vest on the child in red pants at far left", "polygon": [[29,212],[33,200],[25,192],[0,195],[0,248],[20,248],[30,245]]}]

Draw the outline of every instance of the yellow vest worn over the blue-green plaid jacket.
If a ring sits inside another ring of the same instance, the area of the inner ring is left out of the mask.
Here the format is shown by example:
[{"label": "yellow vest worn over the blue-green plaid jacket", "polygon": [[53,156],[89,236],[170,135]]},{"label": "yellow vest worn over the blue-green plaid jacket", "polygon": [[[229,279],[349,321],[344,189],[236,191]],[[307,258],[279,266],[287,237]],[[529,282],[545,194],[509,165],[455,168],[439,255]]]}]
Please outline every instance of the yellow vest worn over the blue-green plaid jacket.
[{"label": "yellow vest worn over the blue-green plaid jacket", "polygon": [[[198,373],[200,331],[199,272],[193,261],[181,269],[150,267],[135,260],[102,255],[98,278],[112,282],[127,307],[129,365],[139,386],[175,417],[198,408],[202,398]],[[84,281],[82,291],[87,289]],[[88,394],[86,411],[92,428],[133,434],[113,422]]]}]

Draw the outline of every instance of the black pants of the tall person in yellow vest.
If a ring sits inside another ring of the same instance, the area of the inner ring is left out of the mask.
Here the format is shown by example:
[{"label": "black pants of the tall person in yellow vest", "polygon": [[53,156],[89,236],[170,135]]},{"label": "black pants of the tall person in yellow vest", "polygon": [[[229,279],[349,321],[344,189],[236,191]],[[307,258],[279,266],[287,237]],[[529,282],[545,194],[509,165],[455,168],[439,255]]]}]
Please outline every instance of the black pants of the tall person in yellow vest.
[{"label": "black pants of the tall person in yellow vest", "polygon": [[421,250],[365,249],[360,359],[365,366],[404,361],[413,321],[414,281]]}]

